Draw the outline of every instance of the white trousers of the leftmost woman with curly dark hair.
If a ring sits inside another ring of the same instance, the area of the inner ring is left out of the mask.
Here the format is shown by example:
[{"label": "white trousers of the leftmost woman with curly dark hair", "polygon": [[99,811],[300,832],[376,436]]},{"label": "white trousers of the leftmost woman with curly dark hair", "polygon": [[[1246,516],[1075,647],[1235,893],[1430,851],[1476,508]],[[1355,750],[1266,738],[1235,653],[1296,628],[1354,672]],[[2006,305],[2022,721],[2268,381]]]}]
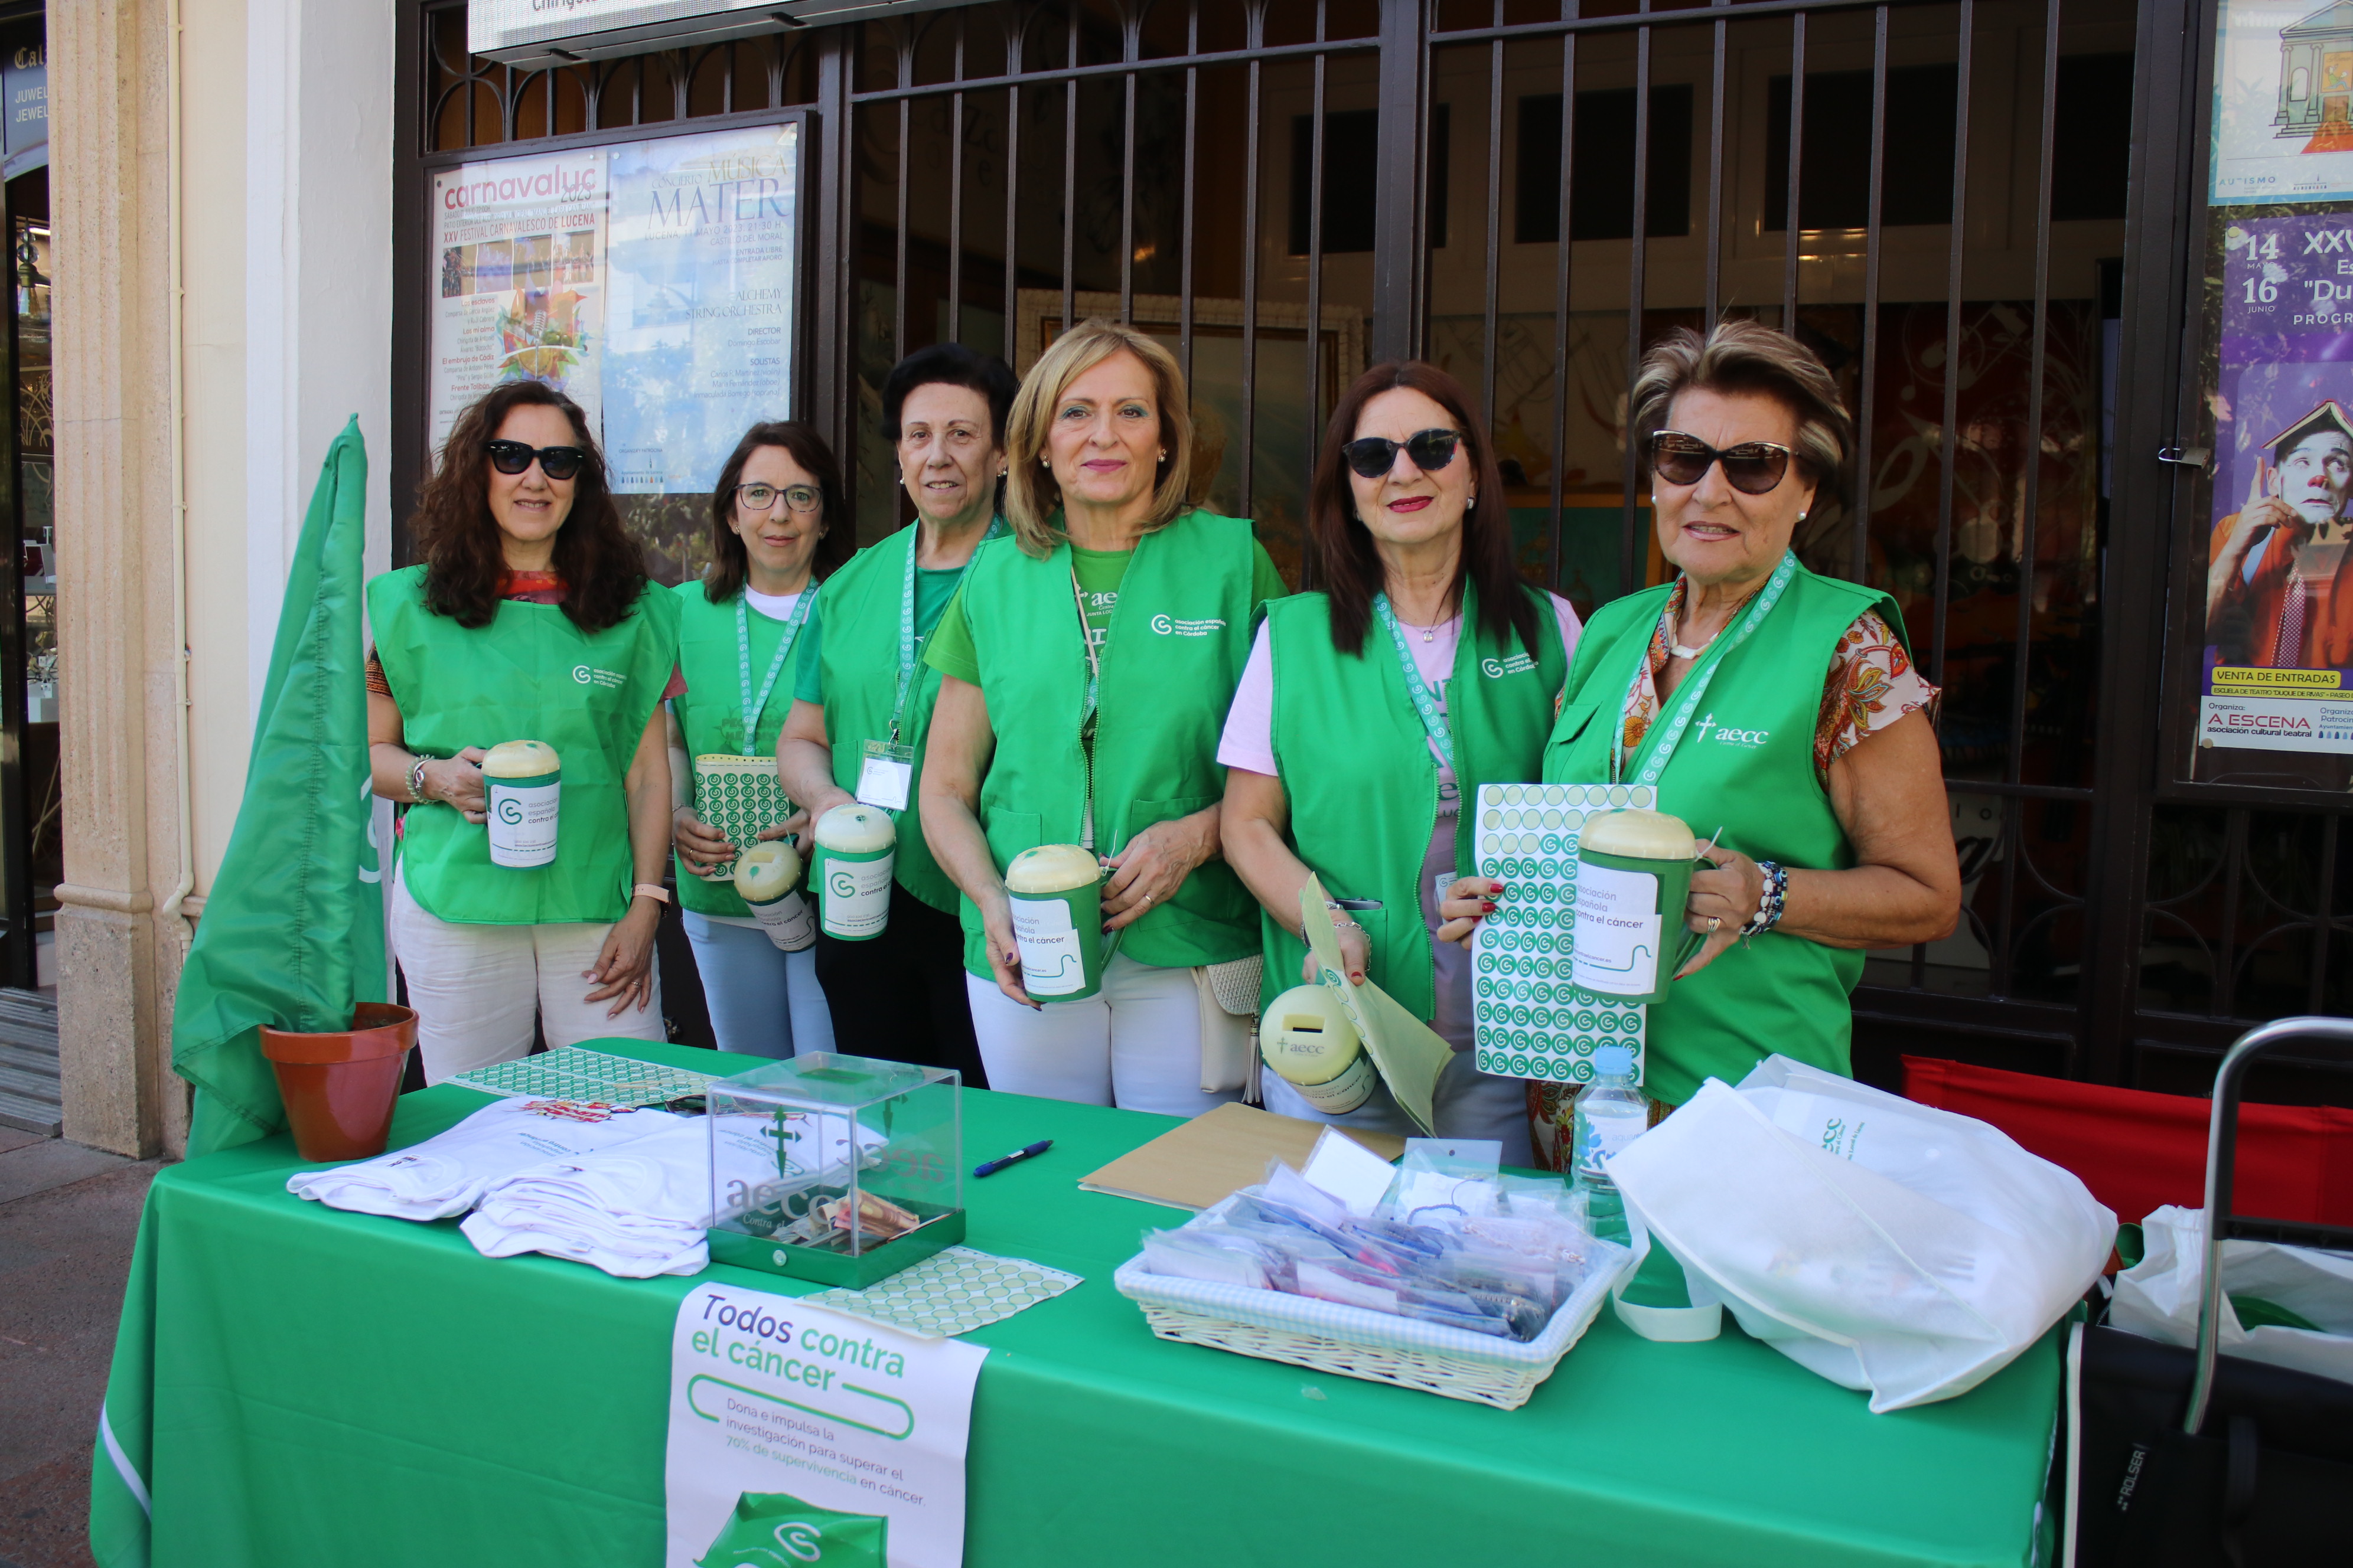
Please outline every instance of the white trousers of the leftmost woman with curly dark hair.
[{"label": "white trousers of the leftmost woman with curly dark hair", "polygon": [[532,1018],[548,1048],[584,1039],[668,1039],[661,976],[645,1009],[605,1018],[612,1001],[588,1001],[612,924],[468,926],[428,914],[393,877],[393,957],[416,1009],[416,1053],[426,1084],[532,1053]]}]

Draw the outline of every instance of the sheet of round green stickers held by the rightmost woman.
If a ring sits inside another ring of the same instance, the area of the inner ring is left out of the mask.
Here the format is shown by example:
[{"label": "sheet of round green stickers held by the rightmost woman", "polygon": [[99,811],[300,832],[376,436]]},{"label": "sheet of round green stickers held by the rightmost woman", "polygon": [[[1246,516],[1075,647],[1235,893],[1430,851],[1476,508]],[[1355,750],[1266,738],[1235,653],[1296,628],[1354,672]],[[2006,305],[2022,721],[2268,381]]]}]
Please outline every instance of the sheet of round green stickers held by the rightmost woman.
[{"label": "sheet of round green stickers held by the rightmost woman", "polygon": [[1569,985],[1572,910],[1586,816],[1657,802],[1652,785],[1480,785],[1478,875],[1504,884],[1471,940],[1480,1072],[1584,1084],[1600,1046],[1628,1046],[1640,1081],[1647,1009]]}]

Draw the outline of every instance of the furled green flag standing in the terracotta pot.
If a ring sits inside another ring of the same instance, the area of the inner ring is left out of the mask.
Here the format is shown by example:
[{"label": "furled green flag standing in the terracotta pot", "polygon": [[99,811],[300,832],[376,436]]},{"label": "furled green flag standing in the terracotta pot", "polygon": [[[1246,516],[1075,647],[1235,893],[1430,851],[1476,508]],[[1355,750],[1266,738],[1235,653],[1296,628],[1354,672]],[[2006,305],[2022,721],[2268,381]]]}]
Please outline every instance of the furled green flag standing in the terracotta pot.
[{"label": "furled green flag standing in the terracotta pot", "polygon": [[367,444],[353,418],[311,491],[245,804],[179,973],[172,1067],[195,1084],[188,1159],[285,1126],[261,1025],[348,1030],[355,1001],[384,999],[360,630],[365,512]]}]

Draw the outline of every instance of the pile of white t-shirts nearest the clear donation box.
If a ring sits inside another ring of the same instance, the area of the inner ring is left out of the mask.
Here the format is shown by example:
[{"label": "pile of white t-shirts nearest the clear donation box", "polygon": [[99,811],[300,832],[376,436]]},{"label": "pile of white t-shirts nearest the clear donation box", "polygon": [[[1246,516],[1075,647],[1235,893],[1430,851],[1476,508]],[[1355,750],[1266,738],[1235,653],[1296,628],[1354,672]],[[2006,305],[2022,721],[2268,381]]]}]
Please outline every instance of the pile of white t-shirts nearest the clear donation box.
[{"label": "pile of white t-shirts nearest the clear donation box", "polygon": [[[722,1119],[722,1131],[732,1131],[725,1126],[732,1121],[736,1119]],[[800,1135],[788,1140],[795,1161],[809,1157],[807,1143],[824,1143],[828,1157],[814,1164],[842,1173],[852,1138],[861,1150],[882,1143],[880,1133],[833,1114],[821,1117],[831,1135],[814,1138],[814,1121],[819,1117],[800,1119]],[[720,1159],[718,1206],[727,1213],[744,1206],[729,1201],[729,1192],[767,1201],[786,1187],[809,1182],[788,1164],[779,1185],[774,1138],[720,1138]],[[711,1262],[711,1124],[694,1117],[619,1150],[518,1171],[482,1194],[464,1229],[487,1258],[548,1253],[624,1279],[699,1274]]]}]

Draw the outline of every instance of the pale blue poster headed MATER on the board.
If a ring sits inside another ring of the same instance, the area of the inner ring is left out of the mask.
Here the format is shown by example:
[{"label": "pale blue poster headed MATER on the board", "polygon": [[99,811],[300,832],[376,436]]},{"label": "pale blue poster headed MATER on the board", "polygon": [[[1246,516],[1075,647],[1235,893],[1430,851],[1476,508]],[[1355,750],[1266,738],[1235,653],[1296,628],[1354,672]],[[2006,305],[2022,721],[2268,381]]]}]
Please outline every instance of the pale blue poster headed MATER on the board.
[{"label": "pale blue poster headed MATER on the board", "polygon": [[788,409],[800,127],[664,136],[607,158],[614,491],[708,491],[744,430]]}]

